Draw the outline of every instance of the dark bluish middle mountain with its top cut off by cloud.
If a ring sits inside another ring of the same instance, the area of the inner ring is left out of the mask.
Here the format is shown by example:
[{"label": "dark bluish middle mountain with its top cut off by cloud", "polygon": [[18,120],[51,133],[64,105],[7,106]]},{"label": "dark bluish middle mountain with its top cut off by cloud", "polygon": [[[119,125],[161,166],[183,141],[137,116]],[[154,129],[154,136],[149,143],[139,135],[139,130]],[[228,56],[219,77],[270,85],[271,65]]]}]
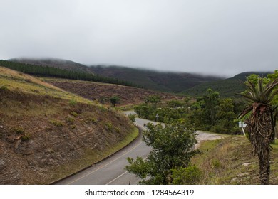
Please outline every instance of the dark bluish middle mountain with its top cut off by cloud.
[{"label": "dark bluish middle mountain with its top cut off by cloud", "polygon": [[181,92],[204,82],[221,80],[221,77],[196,75],[187,72],[158,72],[120,66],[91,66],[96,75],[114,77],[151,90]]}]

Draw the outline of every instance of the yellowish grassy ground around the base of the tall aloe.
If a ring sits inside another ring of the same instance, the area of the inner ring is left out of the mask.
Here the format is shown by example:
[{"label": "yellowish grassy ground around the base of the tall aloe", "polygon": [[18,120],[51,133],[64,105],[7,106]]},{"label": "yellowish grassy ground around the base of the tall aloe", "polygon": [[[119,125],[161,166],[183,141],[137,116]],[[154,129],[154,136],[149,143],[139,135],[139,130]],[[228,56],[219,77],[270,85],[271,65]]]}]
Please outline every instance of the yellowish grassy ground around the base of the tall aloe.
[{"label": "yellowish grassy ground around the base of the tall aloe", "polygon": [[[269,183],[277,185],[278,144],[272,147]],[[204,173],[200,184],[260,184],[259,163],[246,137],[227,136],[224,139],[203,141],[200,151],[202,154],[192,158],[192,163]]]}]

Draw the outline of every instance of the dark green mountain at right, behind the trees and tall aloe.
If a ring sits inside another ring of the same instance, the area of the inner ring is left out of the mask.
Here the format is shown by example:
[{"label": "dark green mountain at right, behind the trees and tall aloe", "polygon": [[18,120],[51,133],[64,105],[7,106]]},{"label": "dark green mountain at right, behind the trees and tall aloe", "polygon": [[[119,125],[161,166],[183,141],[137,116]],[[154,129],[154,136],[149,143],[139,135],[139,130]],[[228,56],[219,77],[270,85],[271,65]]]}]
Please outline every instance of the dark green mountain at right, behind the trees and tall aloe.
[{"label": "dark green mountain at right, behind the trees and tall aloe", "polygon": [[207,89],[211,88],[212,90],[220,92],[220,97],[238,97],[235,93],[246,90],[246,87],[240,82],[240,80],[245,81],[246,77],[252,74],[259,75],[260,77],[267,77],[269,73],[272,72],[242,72],[225,80],[206,82],[191,87],[190,89],[183,91],[182,94],[198,97],[204,95]]}]

